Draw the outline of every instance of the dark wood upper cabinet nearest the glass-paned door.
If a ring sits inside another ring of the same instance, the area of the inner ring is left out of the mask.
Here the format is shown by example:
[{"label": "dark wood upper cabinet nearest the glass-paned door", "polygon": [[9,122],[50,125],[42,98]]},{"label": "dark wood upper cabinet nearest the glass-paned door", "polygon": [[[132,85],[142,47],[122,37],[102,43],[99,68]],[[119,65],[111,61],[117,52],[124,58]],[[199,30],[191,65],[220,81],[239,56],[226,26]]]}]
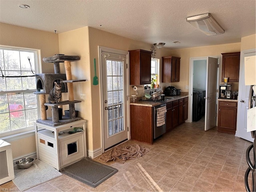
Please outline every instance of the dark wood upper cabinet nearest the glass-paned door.
[{"label": "dark wood upper cabinet nearest the glass-paned door", "polygon": [[151,52],[145,50],[130,50],[130,85],[151,83]]}]

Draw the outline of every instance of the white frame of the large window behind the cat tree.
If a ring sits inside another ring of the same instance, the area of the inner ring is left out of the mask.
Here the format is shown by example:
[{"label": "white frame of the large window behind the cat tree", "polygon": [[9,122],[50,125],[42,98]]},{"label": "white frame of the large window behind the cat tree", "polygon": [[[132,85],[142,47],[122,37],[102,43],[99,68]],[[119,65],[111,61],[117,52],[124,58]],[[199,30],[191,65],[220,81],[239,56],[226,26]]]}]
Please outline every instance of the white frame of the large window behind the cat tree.
[{"label": "white frame of the large window behind the cat tree", "polygon": [[[12,47],[12,46],[2,46],[2,45],[0,45],[0,48],[4,49],[4,50],[30,51],[30,52],[32,51],[32,52],[34,52],[35,73],[36,74],[41,73],[42,68],[40,67],[41,64],[40,64],[40,60],[39,60],[40,50],[29,49],[29,48],[19,48],[19,47]],[[0,74],[0,76],[2,76],[2,73]],[[11,91],[9,91],[9,90],[1,91],[0,90],[0,94],[20,93],[20,92],[26,93],[26,92],[33,92],[33,91],[36,91],[36,88],[33,89],[33,90],[11,90]],[[38,111],[38,118],[39,118],[39,116],[40,116],[40,104],[39,104],[38,101],[39,101],[39,97],[37,96],[37,111]],[[0,125],[1,125],[1,122],[0,122]],[[34,130],[34,129],[35,129],[35,126],[33,125],[33,126],[26,127],[26,128],[20,128],[20,129],[16,129],[16,130],[10,130],[10,131],[7,131],[7,132],[2,132],[2,133],[0,133],[0,138],[9,138],[10,136],[14,136],[14,135],[17,135],[17,134],[20,135],[21,133],[28,133],[28,132],[30,132],[31,130]]]}]

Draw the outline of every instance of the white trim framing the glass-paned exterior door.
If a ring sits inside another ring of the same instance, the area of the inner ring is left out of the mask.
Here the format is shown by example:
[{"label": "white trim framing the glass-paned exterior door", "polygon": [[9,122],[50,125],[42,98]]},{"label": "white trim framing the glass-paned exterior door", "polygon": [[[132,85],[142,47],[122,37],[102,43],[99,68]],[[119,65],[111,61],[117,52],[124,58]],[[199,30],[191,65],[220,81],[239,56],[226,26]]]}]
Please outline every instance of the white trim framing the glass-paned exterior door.
[{"label": "white trim framing the glass-paned exterior door", "polygon": [[[102,52],[110,52],[113,54],[122,54],[122,55],[126,55],[126,64],[127,64],[127,85],[126,85],[126,91],[127,91],[127,126],[130,127],[130,89],[129,89],[129,82],[130,82],[130,76],[129,76],[129,52],[128,51],[123,51],[123,50],[117,50],[117,49],[113,49],[113,48],[108,48],[108,47],[103,47],[103,46],[98,46],[98,59],[100,61],[100,67],[99,67],[99,71],[100,71],[100,77],[103,76],[103,71],[102,71]],[[103,106],[103,82],[102,82],[102,78],[100,78],[100,126],[101,126],[101,148],[102,148],[102,153],[104,153],[104,106]],[[128,140],[130,140],[130,129],[128,129]]]}]

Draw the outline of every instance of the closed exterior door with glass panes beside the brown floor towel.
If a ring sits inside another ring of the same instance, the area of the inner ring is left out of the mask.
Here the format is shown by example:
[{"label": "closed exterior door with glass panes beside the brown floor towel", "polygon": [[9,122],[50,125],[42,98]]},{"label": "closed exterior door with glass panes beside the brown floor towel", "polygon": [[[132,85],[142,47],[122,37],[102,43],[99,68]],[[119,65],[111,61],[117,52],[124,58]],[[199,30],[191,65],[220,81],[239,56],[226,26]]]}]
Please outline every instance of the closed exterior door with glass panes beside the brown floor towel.
[{"label": "closed exterior door with glass panes beside the brown floor towel", "polygon": [[104,150],[128,139],[126,55],[102,52]]}]

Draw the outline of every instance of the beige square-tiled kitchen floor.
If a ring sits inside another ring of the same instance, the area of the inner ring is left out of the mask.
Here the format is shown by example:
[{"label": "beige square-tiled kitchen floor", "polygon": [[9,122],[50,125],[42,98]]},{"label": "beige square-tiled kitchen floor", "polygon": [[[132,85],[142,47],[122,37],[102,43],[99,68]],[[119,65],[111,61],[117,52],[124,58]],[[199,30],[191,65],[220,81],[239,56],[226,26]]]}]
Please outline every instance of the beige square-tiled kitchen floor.
[{"label": "beige square-tiled kitchen floor", "polygon": [[[245,152],[250,144],[217,128],[205,132],[203,121],[184,123],[146,145],[152,149],[138,160],[107,163],[119,171],[96,188],[63,175],[27,191],[245,192]],[[0,188],[19,191],[12,181]]]}]

